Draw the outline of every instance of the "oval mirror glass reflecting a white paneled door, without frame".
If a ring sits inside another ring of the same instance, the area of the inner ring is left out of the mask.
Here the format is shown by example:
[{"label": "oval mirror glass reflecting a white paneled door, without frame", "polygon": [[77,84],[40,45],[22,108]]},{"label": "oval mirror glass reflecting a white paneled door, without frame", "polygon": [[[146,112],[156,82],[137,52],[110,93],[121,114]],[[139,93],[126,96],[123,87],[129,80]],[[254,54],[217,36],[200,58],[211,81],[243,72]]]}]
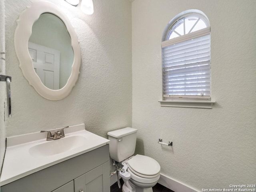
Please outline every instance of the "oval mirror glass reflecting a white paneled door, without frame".
[{"label": "oval mirror glass reflecting a white paneled door, without frame", "polygon": [[32,26],[28,51],[41,82],[49,89],[63,88],[70,77],[74,52],[65,24],[50,13],[43,13]]}]

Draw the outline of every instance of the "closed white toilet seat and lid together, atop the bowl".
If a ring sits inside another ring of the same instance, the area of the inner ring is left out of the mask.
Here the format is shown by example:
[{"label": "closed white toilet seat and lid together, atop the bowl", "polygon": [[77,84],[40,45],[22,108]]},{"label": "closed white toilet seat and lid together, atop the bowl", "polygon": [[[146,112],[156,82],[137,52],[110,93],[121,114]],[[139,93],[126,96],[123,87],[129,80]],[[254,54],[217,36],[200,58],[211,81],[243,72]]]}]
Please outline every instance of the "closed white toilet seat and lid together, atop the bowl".
[{"label": "closed white toilet seat and lid together, atop the bowl", "polygon": [[131,178],[139,182],[153,183],[160,177],[160,165],[151,157],[137,154],[127,165]]}]

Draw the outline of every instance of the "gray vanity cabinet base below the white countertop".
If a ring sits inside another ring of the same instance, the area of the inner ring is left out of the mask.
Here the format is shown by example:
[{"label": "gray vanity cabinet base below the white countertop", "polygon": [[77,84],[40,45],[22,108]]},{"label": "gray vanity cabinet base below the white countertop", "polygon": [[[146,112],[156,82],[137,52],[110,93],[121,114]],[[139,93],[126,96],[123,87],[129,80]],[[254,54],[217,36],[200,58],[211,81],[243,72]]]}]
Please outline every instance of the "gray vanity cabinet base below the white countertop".
[{"label": "gray vanity cabinet base below the white countertop", "polygon": [[1,186],[1,192],[110,192],[109,145]]}]

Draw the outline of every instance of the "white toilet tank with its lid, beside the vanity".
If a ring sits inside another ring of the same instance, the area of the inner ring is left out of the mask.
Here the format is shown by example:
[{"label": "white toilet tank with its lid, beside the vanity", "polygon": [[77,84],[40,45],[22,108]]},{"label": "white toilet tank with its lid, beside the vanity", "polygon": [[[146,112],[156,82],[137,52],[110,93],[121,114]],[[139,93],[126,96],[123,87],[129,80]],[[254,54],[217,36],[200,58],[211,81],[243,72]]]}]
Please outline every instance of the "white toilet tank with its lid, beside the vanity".
[{"label": "white toilet tank with its lid, beside the vanity", "polygon": [[110,157],[121,162],[132,156],[136,146],[137,129],[126,127],[108,132]]}]

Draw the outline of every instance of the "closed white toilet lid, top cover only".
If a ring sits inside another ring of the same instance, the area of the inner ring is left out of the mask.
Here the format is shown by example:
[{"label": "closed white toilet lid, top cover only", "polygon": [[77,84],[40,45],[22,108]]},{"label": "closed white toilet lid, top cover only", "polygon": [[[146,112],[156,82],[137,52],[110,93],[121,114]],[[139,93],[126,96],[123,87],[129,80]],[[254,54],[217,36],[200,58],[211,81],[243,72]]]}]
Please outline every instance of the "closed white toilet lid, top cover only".
[{"label": "closed white toilet lid, top cover only", "polygon": [[159,163],[153,158],[144,155],[134,156],[127,161],[127,164],[131,170],[145,176],[154,176],[160,172]]}]

